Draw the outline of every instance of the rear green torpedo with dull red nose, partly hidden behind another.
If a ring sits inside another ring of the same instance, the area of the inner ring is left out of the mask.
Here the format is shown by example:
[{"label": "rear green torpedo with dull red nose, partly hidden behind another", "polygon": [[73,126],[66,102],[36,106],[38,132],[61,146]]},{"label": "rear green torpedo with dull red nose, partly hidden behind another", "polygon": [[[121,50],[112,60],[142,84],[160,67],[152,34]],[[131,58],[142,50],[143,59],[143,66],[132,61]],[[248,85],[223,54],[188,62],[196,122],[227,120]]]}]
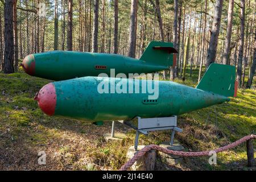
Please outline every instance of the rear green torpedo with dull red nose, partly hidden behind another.
[{"label": "rear green torpedo with dull red nose, partly hidden behind another", "polygon": [[21,65],[28,75],[59,81],[100,73],[110,76],[110,69],[126,75],[162,71],[175,65],[176,53],[172,43],[153,41],[140,59],[109,53],[49,51],[28,55]]}]

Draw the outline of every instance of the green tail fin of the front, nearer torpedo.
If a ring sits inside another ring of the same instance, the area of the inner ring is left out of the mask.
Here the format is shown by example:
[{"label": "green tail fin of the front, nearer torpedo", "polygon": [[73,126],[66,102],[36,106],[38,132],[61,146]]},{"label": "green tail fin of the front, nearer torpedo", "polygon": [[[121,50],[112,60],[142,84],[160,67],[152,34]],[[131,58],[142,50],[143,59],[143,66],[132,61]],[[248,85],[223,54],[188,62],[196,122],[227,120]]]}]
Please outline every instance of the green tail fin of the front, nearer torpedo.
[{"label": "green tail fin of the front, nearer torpedo", "polygon": [[226,97],[236,97],[237,86],[235,67],[212,63],[196,88]]}]

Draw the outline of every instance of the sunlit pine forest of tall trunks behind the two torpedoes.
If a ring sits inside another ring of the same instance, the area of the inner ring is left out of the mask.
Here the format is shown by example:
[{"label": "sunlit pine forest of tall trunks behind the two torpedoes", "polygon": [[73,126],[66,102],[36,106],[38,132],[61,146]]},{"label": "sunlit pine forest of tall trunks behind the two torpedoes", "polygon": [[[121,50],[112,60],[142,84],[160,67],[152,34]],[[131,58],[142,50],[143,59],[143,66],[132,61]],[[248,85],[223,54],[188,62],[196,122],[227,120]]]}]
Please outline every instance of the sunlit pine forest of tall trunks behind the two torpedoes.
[{"label": "sunlit pine forest of tall trunks behind the two torpedoes", "polygon": [[240,86],[250,88],[256,64],[255,1],[0,2],[0,61],[5,73],[17,71],[19,59],[26,55],[53,49],[139,58],[152,40],[174,42],[179,51],[176,69],[164,71],[164,79],[185,78],[188,66],[199,69],[200,80],[205,65],[215,61],[235,65]]}]

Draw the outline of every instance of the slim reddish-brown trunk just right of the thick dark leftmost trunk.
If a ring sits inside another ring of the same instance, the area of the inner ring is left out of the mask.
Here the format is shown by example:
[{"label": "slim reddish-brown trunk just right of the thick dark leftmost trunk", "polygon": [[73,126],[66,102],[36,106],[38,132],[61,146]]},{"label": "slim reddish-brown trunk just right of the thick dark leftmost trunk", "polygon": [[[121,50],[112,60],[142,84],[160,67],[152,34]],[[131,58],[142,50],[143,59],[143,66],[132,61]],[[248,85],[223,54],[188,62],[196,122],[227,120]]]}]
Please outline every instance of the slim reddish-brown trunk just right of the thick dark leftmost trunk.
[{"label": "slim reddish-brown trunk just right of the thick dark leftmost trunk", "polygon": [[14,26],[14,71],[18,71],[19,47],[18,47],[18,24],[17,24],[17,0],[13,1],[13,26]]}]

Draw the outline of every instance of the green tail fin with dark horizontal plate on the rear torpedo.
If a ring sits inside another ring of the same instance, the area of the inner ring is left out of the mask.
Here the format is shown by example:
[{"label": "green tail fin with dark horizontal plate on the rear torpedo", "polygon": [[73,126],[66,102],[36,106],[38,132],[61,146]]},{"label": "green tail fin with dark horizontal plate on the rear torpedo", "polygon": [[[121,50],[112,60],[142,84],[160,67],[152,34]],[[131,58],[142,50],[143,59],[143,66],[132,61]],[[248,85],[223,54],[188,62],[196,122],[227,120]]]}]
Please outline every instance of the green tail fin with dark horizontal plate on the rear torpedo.
[{"label": "green tail fin with dark horizontal plate on the rear torpedo", "polygon": [[176,53],[178,52],[172,43],[152,41],[148,44],[140,60],[168,68],[176,65]]}]

